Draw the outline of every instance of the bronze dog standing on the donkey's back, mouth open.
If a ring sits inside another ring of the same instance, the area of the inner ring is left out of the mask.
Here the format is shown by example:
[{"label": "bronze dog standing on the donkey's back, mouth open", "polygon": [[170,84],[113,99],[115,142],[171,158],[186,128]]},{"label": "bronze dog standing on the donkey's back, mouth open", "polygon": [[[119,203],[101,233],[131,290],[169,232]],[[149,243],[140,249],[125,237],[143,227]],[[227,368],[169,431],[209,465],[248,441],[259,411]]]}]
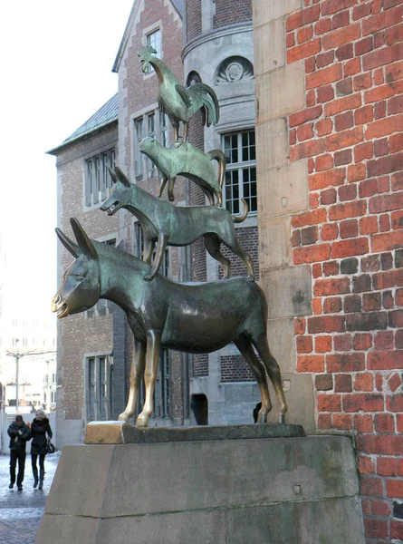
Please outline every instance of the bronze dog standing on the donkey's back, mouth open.
[{"label": "bronze dog standing on the donkey's back, mouth open", "polygon": [[110,176],[114,185],[101,209],[113,215],[118,209],[126,208],[139,219],[144,233],[143,260],[146,263],[151,263],[157,244],[156,257],[144,279],[151,280],[158,273],[167,246],[188,246],[203,236],[208,253],[224,267],[224,277],[229,277],[230,261],[222,255],[221,243],[244,260],[248,277],[254,281],[252,259],[239,245],[234,228],[234,223],[246,219],[248,207],[245,200],[244,213],[240,217],[233,217],[226,209],[216,206],[175,207],[130,183],[119,167],[110,169]]}]

